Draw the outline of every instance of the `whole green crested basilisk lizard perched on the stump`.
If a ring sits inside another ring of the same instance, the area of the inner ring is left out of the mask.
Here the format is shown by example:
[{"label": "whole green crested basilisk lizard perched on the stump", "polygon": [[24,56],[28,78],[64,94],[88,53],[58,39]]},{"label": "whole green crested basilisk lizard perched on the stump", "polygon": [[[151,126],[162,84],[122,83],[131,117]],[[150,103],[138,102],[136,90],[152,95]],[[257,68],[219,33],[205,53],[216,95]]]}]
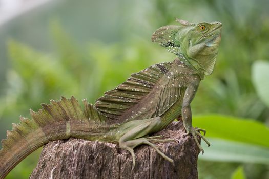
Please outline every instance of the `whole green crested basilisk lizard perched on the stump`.
[{"label": "whole green crested basilisk lizard perched on the stump", "polygon": [[157,29],[152,41],[177,55],[174,61],[150,66],[134,73],[115,89],[84,108],[71,97],[51,100],[32,119],[20,117],[2,140],[0,178],[4,178],[20,161],[49,141],[70,137],[91,141],[118,143],[130,151],[135,165],[134,148],[141,144],[152,146],[164,159],[173,162],[150,141],[169,141],[147,137],[167,127],[180,115],[203,152],[196,135],[210,146],[199,133],[205,130],[192,126],[190,103],[204,75],[210,75],[216,61],[221,39],[221,23],[193,24],[176,19],[179,26]]}]

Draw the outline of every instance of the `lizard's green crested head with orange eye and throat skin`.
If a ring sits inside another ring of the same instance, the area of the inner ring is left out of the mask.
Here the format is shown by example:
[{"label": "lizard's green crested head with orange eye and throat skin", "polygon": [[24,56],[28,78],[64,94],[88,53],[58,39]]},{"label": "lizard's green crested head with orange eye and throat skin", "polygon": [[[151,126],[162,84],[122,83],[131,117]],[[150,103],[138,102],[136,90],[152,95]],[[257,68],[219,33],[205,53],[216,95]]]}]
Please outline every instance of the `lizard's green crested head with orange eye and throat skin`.
[{"label": "lizard's green crested head with orange eye and throat skin", "polygon": [[185,64],[210,75],[213,71],[222,25],[219,22],[193,24],[176,18],[179,26],[170,25],[157,29],[152,42],[157,42],[180,57]]}]

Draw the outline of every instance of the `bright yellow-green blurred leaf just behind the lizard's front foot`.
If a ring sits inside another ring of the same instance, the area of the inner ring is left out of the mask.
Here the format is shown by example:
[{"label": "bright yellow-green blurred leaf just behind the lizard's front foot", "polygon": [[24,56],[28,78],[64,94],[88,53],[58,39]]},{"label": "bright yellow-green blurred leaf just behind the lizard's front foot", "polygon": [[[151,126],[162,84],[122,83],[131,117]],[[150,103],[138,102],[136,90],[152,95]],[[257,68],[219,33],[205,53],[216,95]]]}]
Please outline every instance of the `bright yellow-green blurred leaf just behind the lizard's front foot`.
[{"label": "bright yellow-green blurred leaf just behind the lizard's front foot", "polygon": [[193,126],[205,129],[207,137],[269,147],[269,128],[251,119],[204,115],[194,117]]}]

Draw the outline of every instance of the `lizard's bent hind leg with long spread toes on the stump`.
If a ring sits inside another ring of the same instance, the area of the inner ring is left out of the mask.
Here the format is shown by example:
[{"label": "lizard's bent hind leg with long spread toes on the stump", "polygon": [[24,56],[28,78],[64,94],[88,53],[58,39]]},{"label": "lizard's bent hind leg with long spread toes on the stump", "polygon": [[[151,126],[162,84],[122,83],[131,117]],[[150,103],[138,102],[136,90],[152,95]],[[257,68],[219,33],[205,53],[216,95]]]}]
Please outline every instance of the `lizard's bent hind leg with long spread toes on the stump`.
[{"label": "lizard's bent hind leg with long spread toes on the stump", "polygon": [[156,118],[151,118],[151,119],[137,120],[136,122],[140,123],[140,125],[135,126],[134,128],[132,128],[127,133],[125,133],[125,135],[123,135],[119,139],[119,147],[128,150],[132,154],[133,166],[135,166],[134,148],[142,144],[150,145],[165,160],[168,160],[169,162],[173,163],[172,159],[170,159],[168,156],[162,153],[154,144],[149,142],[149,141],[167,142],[167,141],[171,141],[171,139],[161,140],[161,139],[152,139],[152,137],[150,137],[149,139],[144,137],[154,131],[154,129],[161,123],[161,118],[156,117]]}]

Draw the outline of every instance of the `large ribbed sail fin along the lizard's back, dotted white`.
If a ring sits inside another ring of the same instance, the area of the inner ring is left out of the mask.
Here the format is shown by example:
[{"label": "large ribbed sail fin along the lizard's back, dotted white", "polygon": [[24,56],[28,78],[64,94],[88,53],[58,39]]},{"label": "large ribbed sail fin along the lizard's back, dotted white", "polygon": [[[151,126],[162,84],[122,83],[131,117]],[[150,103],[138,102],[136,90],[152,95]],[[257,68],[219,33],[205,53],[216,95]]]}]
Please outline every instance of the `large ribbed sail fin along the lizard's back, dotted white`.
[{"label": "large ribbed sail fin along the lizard's back, dotted white", "polygon": [[147,97],[156,83],[169,71],[171,64],[171,62],[155,64],[133,73],[125,82],[97,99],[94,107],[113,123],[121,122],[120,117]]}]

